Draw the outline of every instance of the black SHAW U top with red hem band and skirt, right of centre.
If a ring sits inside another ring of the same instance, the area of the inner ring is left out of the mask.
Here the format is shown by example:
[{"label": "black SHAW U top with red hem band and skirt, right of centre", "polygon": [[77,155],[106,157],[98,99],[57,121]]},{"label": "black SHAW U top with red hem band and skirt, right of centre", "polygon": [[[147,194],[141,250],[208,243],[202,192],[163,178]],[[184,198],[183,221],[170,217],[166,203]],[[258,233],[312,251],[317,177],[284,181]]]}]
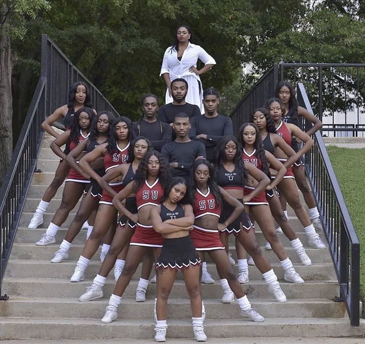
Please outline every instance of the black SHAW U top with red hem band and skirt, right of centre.
[{"label": "black SHAW U top with red hem band and skirt, right of centre", "polygon": [[[224,166],[220,165],[217,171],[217,184],[224,190],[239,190],[244,191],[243,186],[245,181],[242,180],[241,173],[237,166],[234,167],[232,172],[227,171]],[[239,200],[243,203],[242,200]],[[223,200],[222,212],[220,214],[219,222],[223,223],[232,213],[234,207]],[[221,233],[238,235],[241,230],[240,222],[246,230],[250,230],[253,225],[245,210],[231,223],[229,224]]]}]

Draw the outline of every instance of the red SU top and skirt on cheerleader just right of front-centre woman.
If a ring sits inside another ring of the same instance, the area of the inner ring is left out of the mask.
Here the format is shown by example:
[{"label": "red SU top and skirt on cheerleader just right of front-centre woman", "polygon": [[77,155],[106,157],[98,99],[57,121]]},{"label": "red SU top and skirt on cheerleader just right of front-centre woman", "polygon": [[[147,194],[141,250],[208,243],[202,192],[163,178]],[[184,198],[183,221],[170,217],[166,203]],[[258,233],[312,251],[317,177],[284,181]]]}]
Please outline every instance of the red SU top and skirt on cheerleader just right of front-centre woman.
[{"label": "red SU top and skirt on cheerleader just right of front-centre woman", "polygon": [[[198,189],[195,190],[193,212],[195,218],[205,215],[220,216],[221,206],[217,205],[217,200],[209,187],[207,194],[203,194]],[[207,229],[193,225],[190,237],[197,251],[224,250],[218,229]]]}]

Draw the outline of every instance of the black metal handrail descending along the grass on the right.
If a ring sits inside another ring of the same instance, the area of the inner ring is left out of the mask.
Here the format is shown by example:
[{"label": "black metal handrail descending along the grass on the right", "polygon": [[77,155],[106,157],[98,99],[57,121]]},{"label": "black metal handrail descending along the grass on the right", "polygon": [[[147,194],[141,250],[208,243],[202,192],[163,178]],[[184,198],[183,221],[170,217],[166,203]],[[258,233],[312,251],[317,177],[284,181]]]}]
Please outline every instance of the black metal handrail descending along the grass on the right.
[{"label": "black metal handrail descending along the grass on the right", "polygon": [[[304,85],[298,83],[299,105],[313,114]],[[306,123],[306,126],[312,126]],[[352,326],[360,325],[360,243],[345,205],[320,132],[305,155],[305,168],[317,202],[324,233]]]}]

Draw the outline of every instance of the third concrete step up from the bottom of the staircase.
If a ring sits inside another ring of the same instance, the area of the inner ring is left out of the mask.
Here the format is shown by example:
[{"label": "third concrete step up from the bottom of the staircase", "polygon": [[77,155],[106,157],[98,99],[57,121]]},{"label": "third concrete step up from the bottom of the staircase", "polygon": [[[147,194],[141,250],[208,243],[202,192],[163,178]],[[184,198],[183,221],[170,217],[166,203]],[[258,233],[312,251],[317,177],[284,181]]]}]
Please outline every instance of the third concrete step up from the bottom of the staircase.
[{"label": "third concrete step up from the bottom of the staircase", "polygon": [[[60,278],[4,278],[2,282],[2,292],[7,295],[22,297],[78,297],[84,293],[85,288],[91,284],[91,279],[78,283],[72,283],[68,279]],[[124,297],[135,297],[137,280],[131,280],[126,288]],[[308,281],[303,284],[293,284],[289,282],[281,282],[281,287],[288,299],[310,298],[332,299],[338,294],[337,281]],[[114,290],[115,282],[107,280],[104,286],[104,296],[108,298]],[[249,297],[266,298],[274,300],[274,296],[268,291],[268,285],[263,280],[249,281],[242,285],[243,290]],[[155,297],[155,284],[148,286],[146,297],[150,300]],[[220,299],[222,297],[222,289],[218,283],[202,284],[203,298]],[[179,298],[186,295],[185,284],[181,280],[177,280],[171,291],[171,299]]]}]

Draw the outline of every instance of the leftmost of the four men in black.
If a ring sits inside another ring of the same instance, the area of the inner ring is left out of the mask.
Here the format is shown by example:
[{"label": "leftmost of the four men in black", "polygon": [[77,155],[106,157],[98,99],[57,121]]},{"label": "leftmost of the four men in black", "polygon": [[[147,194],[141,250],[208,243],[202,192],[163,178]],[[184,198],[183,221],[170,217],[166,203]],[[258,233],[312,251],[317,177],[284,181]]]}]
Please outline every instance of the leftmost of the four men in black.
[{"label": "leftmost of the four men in black", "polygon": [[171,141],[171,127],[156,118],[158,98],[154,94],[146,94],[142,98],[143,117],[133,122],[132,131],[135,136],[144,136],[151,140],[154,149],[160,151],[162,146]]}]

